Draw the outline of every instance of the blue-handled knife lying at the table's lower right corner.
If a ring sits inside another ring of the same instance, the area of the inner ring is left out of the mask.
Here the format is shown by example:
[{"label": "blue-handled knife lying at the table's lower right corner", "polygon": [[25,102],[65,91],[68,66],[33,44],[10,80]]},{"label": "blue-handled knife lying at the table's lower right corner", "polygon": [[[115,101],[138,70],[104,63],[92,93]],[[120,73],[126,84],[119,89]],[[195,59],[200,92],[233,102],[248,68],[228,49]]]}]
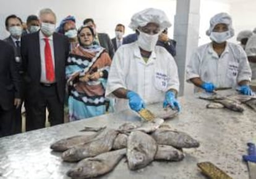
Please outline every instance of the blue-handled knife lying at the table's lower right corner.
[{"label": "blue-handled knife lying at the table's lower right corner", "polygon": [[247,143],[248,155],[242,156],[248,164],[250,179],[256,179],[256,148],[254,143]]}]

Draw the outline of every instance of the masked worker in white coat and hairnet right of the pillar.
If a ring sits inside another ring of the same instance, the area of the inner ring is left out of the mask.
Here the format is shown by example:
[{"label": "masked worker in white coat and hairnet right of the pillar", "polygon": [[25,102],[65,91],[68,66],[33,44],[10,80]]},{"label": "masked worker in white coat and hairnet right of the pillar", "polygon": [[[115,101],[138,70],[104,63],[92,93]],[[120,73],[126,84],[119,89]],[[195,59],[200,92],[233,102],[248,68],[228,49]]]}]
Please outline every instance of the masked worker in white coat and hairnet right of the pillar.
[{"label": "masked worker in white coat and hairnet right of the pillar", "polygon": [[254,95],[249,87],[252,71],[244,50],[227,42],[234,36],[231,17],[226,13],[213,16],[207,35],[211,42],[192,54],[186,69],[187,81],[206,92],[231,87],[243,95]]}]

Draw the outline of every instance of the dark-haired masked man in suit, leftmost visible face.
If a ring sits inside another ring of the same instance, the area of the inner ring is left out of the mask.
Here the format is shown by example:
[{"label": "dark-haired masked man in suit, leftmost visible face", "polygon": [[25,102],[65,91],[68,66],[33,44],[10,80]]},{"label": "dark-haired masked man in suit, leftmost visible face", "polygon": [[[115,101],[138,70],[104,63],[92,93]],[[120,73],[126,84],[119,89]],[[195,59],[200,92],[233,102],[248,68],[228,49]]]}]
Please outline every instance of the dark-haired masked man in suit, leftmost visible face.
[{"label": "dark-haired masked man in suit, leftmost visible face", "polygon": [[[4,41],[8,42],[14,49],[15,65],[19,74],[23,73],[21,68],[21,57],[20,57],[20,38],[22,36],[22,20],[16,15],[9,15],[6,17],[6,30],[9,31],[10,36]],[[23,82],[20,83],[20,97],[21,103],[23,102]],[[14,133],[22,132],[22,115],[21,115],[22,105],[15,110],[13,131]]]}]

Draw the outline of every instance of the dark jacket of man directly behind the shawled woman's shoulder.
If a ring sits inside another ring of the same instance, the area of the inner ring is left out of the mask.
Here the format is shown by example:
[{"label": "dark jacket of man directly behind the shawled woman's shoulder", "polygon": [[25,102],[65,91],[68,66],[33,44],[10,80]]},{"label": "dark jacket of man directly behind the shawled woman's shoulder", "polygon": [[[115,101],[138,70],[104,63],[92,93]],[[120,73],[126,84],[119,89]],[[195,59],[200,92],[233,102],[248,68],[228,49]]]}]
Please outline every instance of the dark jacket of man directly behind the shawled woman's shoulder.
[{"label": "dark jacket of man directly behind the shawled woman's shoulder", "polygon": [[106,49],[110,58],[112,59],[114,57],[114,46],[108,34],[98,33],[98,39],[100,41],[100,46]]}]

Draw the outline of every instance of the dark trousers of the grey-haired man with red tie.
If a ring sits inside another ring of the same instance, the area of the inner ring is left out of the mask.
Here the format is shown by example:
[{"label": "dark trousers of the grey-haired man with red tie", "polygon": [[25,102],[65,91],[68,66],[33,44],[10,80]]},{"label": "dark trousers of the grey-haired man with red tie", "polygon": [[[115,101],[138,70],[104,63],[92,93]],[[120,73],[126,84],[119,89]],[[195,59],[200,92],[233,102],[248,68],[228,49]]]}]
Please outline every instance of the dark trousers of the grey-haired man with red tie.
[{"label": "dark trousers of the grey-haired man with red tie", "polygon": [[26,130],[35,130],[45,127],[46,108],[49,111],[49,123],[51,125],[64,122],[64,105],[58,98],[56,84],[51,86],[40,85],[40,96],[35,97],[36,103],[31,104],[29,99],[26,103]]}]

